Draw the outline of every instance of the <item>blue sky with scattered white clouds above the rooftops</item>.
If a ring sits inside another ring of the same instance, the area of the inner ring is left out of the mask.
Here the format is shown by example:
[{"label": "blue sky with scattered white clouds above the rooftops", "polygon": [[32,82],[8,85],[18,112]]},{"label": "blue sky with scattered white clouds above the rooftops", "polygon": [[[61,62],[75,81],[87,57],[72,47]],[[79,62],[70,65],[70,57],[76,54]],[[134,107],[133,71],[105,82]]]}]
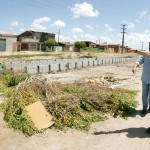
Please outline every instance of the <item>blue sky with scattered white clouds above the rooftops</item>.
[{"label": "blue sky with scattered white clouds above the rooftops", "polygon": [[92,41],[147,50],[150,0],[0,0],[0,34],[26,30],[56,34],[56,41]]}]

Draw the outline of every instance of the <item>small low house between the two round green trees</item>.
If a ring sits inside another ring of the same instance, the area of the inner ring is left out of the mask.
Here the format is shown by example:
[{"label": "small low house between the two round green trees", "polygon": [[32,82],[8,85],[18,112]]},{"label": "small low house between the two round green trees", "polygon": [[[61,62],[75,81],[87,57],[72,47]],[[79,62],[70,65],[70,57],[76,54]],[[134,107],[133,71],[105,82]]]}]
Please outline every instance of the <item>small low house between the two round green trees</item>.
[{"label": "small low house between the two round green trees", "polygon": [[62,47],[62,51],[74,51],[74,44],[70,42],[59,42],[59,47]]}]

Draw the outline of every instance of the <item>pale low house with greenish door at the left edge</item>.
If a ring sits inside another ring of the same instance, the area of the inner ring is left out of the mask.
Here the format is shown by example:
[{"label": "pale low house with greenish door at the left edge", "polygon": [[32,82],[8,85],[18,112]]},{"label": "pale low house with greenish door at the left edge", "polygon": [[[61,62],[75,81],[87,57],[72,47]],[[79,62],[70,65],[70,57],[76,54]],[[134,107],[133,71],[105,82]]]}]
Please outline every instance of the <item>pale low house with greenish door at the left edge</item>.
[{"label": "pale low house with greenish door at the left edge", "polygon": [[17,36],[14,34],[0,34],[0,52],[16,52]]}]

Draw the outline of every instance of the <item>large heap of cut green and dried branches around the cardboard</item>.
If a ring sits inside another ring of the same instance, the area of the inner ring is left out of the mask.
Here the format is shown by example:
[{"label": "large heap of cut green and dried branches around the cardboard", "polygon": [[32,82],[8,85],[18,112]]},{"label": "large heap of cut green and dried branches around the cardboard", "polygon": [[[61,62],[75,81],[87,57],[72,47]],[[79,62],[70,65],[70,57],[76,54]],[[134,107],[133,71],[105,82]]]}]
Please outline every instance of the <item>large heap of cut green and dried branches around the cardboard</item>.
[{"label": "large heap of cut green and dried branches around the cardboard", "polygon": [[[29,78],[14,88],[4,84],[7,83],[4,80],[7,78],[3,77],[1,80],[5,90],[0,88],[8,98],[0,105],[0,110],[4,112],[4,120],[9,127],[28,136],[42,132],[34,126],[25,110],[25,106],[38,100],[41,100],[54,117],[55,124],[51,128],[57,130],[73,128],[88,131],[92,122],[107,119],[107,114],[127,118],[137,107],[136,91],[112,90],[97,84],[78,82],[73,84],[53,82],[45,86],[45,80],[37,78],[32,80]],[[12,88],[10,92],[8,89]],[[9,94],[6,94],[8,92]]]}]

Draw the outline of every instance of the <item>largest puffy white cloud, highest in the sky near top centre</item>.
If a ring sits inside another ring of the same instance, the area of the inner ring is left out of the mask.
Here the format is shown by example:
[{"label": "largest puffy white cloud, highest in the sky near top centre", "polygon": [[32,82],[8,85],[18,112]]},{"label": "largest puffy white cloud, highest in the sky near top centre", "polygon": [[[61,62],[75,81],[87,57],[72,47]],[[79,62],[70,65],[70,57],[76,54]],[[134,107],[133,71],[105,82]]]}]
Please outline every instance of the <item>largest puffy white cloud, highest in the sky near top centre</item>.
[{"label": "largest puffy white cloud, highest in the sky near top centre", "polygon": [[83,17],[98,17],[98,10],[94,9],[92,4],[83,2],[82,4],[74,4],[74,7],[70,8],[73,13],[73,18]]}]

